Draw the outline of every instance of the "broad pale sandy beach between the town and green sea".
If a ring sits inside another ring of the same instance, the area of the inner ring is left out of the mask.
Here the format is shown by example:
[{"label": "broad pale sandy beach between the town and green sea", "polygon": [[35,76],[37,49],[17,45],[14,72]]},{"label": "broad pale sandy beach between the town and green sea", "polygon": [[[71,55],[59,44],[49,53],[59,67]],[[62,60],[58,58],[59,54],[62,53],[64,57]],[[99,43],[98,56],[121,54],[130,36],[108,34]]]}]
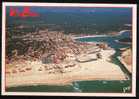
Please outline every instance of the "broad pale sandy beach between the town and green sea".
[{"label": "broad pale sandy beach between the town and green sea", "polygon": [[109,56],[114,50],[101,51],[105,56],[97,61],[78,63],[79,67],[66,73],[48,74],[46,71],[37,71],[41,63],[28,63],[34,69],[28,72],[7,74],[6,87],[28,86],[28,85],[67,85],[73,81],[81,80],[126,80],[120,67],[109,62]]}]

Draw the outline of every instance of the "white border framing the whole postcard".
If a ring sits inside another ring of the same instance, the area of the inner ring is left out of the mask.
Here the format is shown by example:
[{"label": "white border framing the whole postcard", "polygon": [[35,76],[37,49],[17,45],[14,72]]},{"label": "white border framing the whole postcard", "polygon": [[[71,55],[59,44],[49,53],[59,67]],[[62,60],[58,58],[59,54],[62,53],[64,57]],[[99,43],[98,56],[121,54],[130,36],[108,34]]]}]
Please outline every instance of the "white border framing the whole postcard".
[{"label": "white border framing the whole postcard", "polygon": [[[5,7],[6,6],[47,6],[47,7],[131,7],[133,9],[132,16],[132,32],[133,32],[133,73],[132,73],[132,93],[65,93],[65,92],[5,92]],[[137,5],[136,4],[96,4],[96,3],[19,3],[19,2],[3,2],[2,3],[2,95],[26,95],[26,96],[136,96],[136,30],[137,30]]]}]

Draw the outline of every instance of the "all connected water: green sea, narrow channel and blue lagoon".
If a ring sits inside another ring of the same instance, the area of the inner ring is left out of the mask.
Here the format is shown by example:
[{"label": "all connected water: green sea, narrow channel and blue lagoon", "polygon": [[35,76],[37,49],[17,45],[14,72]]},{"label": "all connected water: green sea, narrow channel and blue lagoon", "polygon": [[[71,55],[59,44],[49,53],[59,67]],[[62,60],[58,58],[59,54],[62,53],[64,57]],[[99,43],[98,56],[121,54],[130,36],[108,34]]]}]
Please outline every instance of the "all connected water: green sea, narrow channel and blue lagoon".
[{"label": "all connected water: green sea, narrow channel and blue lagoon", "polygon": [[115,40],[127,37],[127,32],[120,36],[115,37],[90,37],[78,39],[82,42],[107,42],[109,46],[116,50],[115,55],[113,55],[112,62],[118,64],[121,70],[127,75],[128,80],[95,80],[95,81],[76,81],[72,85],[67,86],[48,86],[48,85],[38,85],[38,86],[24,86],[24,87],[11,87],[7,91],[17,91],[17,92],[131,92],[131,74],[124,68],[124,66],[117,59],[120,55],[119,48],[130,47],[126,44],[118,44]]}]

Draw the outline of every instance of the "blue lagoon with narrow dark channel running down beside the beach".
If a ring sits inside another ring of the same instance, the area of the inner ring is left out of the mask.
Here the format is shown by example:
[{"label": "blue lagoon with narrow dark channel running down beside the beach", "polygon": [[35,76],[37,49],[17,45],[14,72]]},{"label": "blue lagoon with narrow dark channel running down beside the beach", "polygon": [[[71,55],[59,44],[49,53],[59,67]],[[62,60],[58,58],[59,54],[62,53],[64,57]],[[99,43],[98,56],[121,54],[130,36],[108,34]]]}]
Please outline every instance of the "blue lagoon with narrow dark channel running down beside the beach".
[{"label": "blue lagoon with narrow dark channel running down beside the beach", "polygon": [[129,36],[131,31],[123,32],[121,35],[116,36],[102,36],[102,37],[85,37],[85,38],[79,38],[76,39],[77,41],[81,42],[105,42],[107,43],[111,48],[114,48],[116,50],[116,53],[112,56],[112,63],[117,64],[121,70],[125,73],[127,76],[127,79],[131,79],[131,73],[125,68],[125,66],[119,61],[118,57],[120,56],[120,48],[127,48],[131,47],[131,44],[123,44],[118,43],[116,40],[120,40],[123,38],[127,38]]}]

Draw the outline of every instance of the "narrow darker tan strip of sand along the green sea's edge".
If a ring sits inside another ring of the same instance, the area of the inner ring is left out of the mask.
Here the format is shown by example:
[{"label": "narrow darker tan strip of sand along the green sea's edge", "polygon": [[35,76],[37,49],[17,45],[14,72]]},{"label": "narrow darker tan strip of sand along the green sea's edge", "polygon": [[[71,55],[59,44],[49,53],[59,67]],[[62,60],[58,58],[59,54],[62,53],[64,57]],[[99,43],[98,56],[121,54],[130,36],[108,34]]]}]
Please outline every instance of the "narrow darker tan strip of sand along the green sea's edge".
[{"label": "narrow darker tan strip of sand along the green sea's edge", "polygon": [[[68,79],[68,80],[67,80]],[[11,85],[6,86],[6,88],[11,88],[11,87],[22,87],[22,86],[39,86],[39,85],[48,85],[48,86],[71,86],[73,82],[80,82],[80,81],[96,81],[96,80],[108,80],[108,81],[116,81],[116,80],[122,80],[126,81],[126,79],[117,77],[116,79],[103,79],[103,78],[95,78],[93,76],[88,76],[88,77],[81,77],[81,76],[76,76],[72,79],[66,78],[66,80],[52,80],[49,82],[48,81],[40,81],[38,82],[37,80],[34,81],[33,83],[30,81],[29,83],[13,83]]]}]

